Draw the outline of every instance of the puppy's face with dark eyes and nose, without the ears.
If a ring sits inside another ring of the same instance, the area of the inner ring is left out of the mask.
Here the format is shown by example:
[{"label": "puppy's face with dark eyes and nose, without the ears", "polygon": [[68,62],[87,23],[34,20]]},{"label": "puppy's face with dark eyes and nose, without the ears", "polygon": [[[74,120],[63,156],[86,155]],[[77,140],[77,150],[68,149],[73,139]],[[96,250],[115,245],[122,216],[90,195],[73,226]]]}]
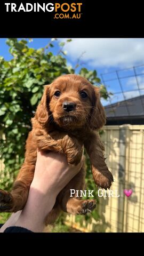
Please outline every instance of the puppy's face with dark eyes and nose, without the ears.
[{"label": "puppy's face with dark eyes and nose, without the ears", "polygon": [[88,83],[75,76],[63,76],[50,86],[50,111],[55,123],[71,128],[83,126],[90,117],[92,90]]}]

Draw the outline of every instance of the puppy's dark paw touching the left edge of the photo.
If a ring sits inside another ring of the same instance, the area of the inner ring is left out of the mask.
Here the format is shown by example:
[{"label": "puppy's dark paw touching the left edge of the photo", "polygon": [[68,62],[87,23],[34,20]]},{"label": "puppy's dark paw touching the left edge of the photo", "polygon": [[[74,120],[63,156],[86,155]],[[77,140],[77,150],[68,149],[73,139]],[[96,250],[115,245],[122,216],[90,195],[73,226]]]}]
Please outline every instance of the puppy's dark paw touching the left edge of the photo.
[{"label": "puppy's dark paw touching the left edge of the photo", "polygon": [[13,208],[12,195],[0,189],[0,212],[11,212]]}]

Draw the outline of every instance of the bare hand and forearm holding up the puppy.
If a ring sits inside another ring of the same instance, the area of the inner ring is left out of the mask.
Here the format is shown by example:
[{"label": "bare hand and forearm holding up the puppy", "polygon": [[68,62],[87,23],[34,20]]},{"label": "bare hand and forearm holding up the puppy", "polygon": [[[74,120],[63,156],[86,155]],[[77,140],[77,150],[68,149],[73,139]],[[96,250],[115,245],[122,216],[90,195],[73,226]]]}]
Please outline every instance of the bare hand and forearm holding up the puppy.
[{"label": "bare hand and forearm holding up the puppy", "polygon": [[22,211],[12,214],[0,232],[10,226],[42,232],[45,217],[52,210],[57,195],[81,167],[82,162],[77,166],[70,166],[65,155],[38,151],[27,203]]}]

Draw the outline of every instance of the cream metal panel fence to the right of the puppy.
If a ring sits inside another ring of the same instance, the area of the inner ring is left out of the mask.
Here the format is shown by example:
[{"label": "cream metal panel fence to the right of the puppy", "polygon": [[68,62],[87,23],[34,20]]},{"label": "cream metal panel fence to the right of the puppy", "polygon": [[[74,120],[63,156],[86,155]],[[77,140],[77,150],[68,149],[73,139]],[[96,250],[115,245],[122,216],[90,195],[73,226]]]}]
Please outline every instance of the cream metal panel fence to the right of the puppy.
[{"label": "cream metal panel fence to the right of the puppy", "polygon": [[[119,197],[101,198],[99,213],[109,223],[107,231],[144,231],[144,125],[106,126],[102,135],[107,165],[114,175],[112,190]],[[126,197],[124,189],[132,189]]]}]

